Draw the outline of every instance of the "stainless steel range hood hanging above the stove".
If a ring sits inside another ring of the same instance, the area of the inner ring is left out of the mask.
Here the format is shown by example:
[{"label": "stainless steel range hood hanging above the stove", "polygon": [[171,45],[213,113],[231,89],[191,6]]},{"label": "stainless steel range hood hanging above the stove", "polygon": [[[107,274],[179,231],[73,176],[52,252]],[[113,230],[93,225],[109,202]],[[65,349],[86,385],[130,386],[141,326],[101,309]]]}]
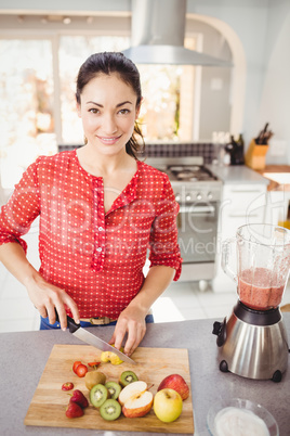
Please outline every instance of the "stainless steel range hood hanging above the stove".
[{"label": "stainless steel range hood hanging above the stove", "polygon": [[186,0],[131,0],[132,47],[123,54],[136,64],[233,66],[184,48]]}]

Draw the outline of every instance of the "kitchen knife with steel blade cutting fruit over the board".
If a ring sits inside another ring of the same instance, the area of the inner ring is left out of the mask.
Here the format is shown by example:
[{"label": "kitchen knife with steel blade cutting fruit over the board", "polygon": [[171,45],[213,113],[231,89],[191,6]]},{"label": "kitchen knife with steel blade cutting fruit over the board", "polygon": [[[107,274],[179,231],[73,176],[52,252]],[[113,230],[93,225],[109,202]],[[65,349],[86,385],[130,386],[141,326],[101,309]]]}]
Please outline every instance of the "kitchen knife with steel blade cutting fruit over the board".
[{"label": "kitchen knife with steel blade cutting fruit over the board", "polygon": [[[56,310],[55,310],[55,312],[56,312]],[[56,321],[60,321],[57,312],[56,312]],[[95,336],[94,334],[88,332],[88,330],[80,326],[80,324],[77,324],[72,320],[72,318],[68,317],[68,315],[67,315],[67,326],[68,326],[69,332],[74,336],[78,337],[80,341],[83,341],[87,344],[92,345],[93,347],[96,347],[97,349],[101,349],[102,351],[115,352],[115,355],[117,355],[121,360],[123,360],[127,363],[136,364],[136,362],[133,359],[126,356],[122,351],[120,351],[119,349],[107,344],[105,341],[101,339],[100,337]]]}]

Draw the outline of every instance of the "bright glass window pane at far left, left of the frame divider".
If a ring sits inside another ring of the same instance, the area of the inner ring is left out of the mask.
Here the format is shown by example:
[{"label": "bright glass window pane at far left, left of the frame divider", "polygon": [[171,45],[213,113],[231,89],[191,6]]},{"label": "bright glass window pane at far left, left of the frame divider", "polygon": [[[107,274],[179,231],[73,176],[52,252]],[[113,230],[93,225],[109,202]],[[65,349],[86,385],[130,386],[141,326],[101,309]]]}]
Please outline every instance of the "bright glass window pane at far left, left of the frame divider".
[{"label": "bright glass window pane at far left, left of the frame divider", "polygon": [[51,41],[0,39],[0,174],[12,188],[39,154],[56,150]]}]

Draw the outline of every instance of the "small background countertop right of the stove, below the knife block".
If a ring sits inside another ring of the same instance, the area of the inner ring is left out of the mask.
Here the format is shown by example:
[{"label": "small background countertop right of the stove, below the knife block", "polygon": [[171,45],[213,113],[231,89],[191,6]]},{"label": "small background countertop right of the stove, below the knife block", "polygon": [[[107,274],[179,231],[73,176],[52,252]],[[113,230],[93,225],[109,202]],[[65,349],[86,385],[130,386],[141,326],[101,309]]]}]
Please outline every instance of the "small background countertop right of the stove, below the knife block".
[{"label": "small background countertop right of the stove, below the knife block", "polygon": [[262,183],[268,184],[269,180],[254,171],[253,169],[247,167],[246,165],[229,165],[229,166],[219,166],[219,165],[207,165],[219,179],[223,181],[224,184],[233,183]]}]

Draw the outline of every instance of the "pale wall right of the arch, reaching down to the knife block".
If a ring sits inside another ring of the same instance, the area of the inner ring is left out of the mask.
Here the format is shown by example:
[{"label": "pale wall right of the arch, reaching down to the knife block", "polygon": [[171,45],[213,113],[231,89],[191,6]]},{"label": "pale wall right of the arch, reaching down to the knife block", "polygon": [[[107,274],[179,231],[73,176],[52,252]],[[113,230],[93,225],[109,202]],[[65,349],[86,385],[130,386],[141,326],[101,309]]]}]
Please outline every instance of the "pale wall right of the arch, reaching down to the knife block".
[{"label": "pale wall right of the arch, reaching down to the knife block", "polygon": [[290,1],[188,0],[187,11],[219,18],[235,30],[247,62],[246,144],[268,121],[275,136],[267,163],[290,165]]}]

